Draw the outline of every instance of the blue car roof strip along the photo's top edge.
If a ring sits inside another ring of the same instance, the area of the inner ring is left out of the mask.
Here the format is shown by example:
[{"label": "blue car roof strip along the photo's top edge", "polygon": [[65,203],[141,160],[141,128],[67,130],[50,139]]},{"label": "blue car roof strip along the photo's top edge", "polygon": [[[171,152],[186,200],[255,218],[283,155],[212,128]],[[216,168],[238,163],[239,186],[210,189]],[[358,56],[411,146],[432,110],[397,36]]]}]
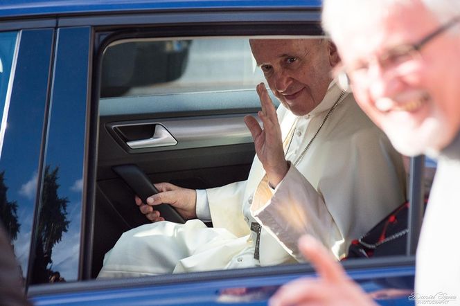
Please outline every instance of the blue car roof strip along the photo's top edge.
[{"label": "blue car roof strip along the photo's top edge", "polygon": [[321,8],[321,0],[3,0],[2,17],[80,15],[145,10],[200,10],[213,8]]}]

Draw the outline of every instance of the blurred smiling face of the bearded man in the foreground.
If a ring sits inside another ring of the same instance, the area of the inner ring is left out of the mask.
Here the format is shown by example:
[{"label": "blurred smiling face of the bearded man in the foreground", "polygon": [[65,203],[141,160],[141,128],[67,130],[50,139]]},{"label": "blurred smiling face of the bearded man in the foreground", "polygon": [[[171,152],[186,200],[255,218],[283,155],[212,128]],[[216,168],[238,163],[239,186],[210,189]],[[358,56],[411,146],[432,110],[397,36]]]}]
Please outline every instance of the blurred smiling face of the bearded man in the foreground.
[{"label": "blurred smiling face of the bearded man in the foreground", "polygon": [[357,102],[403,154],[439,152],[460,129],[459,34],[441,33],[411,60],[384,66],[389,50],[416,44],[443,24],[417,1],[387,17],[360,18],[366,26],[346,28],[336,42],[346,67],[367,68],[350,73]]}]

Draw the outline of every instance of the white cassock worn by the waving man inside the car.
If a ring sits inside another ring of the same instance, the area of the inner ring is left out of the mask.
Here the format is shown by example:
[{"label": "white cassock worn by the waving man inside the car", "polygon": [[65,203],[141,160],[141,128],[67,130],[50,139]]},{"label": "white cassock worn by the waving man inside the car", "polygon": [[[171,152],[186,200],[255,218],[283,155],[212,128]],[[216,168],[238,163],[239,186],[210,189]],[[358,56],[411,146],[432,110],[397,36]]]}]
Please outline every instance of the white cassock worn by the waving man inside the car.
[{"label": "white cassock worn by the waving man inside the car", "polygon": [[206,190],[213,228],[197,219],[134,228],[107,252],[98,277],[300,262],[297,240],[304,233],[321,240],[336,258],[346,255],[351,240],[403,204],[405,172],[400,154],[351,94],[342,96],[294,165],[341,93],[331,84],[320,105],[299,118],[278,107],[283,139],[290,142],[286,158],[292,163],[271,198],[254,198],[265,176],[256,156],[247,181]]}]

